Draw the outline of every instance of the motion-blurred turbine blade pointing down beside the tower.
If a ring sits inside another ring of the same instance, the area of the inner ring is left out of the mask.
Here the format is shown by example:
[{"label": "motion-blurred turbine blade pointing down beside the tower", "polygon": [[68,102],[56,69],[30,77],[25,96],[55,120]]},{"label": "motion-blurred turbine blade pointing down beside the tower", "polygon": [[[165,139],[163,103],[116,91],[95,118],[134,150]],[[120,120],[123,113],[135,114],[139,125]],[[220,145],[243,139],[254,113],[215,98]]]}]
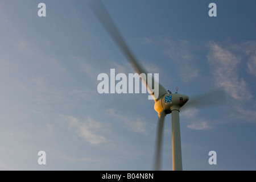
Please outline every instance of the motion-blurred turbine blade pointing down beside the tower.
[{"label": "motion-blurred turbine blade pointing down beside the tower", "polygon": [[166,114],[164,113],[164,111],[162,111],[162,113],[159,114],[158,131],[156,135],[156,151],[155,151],[155,165],[154,165],[155,171],[159,171],[161,166],[164,117],[166,117]]}]

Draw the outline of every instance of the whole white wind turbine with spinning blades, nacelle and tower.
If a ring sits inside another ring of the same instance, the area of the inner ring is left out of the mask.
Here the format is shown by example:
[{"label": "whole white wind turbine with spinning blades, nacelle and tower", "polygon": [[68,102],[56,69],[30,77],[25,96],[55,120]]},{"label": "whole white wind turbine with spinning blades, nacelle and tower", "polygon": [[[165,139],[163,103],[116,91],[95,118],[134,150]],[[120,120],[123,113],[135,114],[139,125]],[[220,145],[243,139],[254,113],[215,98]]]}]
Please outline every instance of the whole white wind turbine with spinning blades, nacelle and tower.
[{"label": "whole white wind turbine with spinning blades, nacelle and tower", "polygon": [[[160,169],[161,162],[161,151],[162,151],[162,141],[163,141],[163,126],[164,118],[166,114],[172,114],[172,169],[182,170],[182,159],[181,159],[181,140],[180,140],[180,119],[179,112],[181,107],[183,107],[189,100],[189,97],[184,94],[178,94],[177,90],[174,94],[167,92],[162,85],[159,84],[159,94],[155,96],[150,88],[154,88],[154,78],[148,76],[146,70],[139,64],[130,48],[127,46],[122,35],[115,26],[112,18],[110,17],[108,11],[106,10],[104,4],[100,0],[93,0],[90,2],[90,7],[96,14],[97,18],[100,20],[102,25],[105,27],[106,31],[113,39],[117,47],[121,50],[123,55],[130,61],[135,72],[138,74],[145,73],[146,79],[142,78],[142,82],[146,84],[148,92],[154,97],[155,105],[154,109],[158,113],[158,130],[156,135],[156,151],[155,151],[155,164],[154,169]],[[152,85],[149,85],[147,80],[152,80]],[[216,97],[217,96],[217,97]],[[212,106],[219,105],[225,100],[224,92],[222,90],[213,91],[199,97],[194,98],[188,102],[189,106]],[[218,98],[218,100],[216,100]],[[221,102],[218,102],[220,101]]]}]

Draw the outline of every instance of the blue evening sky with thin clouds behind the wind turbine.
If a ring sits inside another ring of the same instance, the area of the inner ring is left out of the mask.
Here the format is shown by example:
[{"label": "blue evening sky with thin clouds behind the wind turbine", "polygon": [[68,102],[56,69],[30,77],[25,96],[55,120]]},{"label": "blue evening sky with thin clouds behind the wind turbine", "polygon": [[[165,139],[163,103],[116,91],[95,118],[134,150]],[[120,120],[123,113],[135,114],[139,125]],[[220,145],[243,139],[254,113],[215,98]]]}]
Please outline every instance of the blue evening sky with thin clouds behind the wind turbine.
[{"label": "blue evening sky with thin clouds behind the wind turbine", "polygon": [[[148,93],[98,93],[100,73],[134,70],[89,2],[0,2],[1,170],[153,169],[154,101]],[[183,169],[256,170],[256,2],[102,2],[166,90],[191,99],[225,92],[225,104],[180,111]],[[212,2],[217,16],[208,14]],[[46,16],[38,16],[39,3]],[[167,171],[171,114],[163,138]],[[46,164],[39,165],[39,151]],[[217,164],[209,164],[210,151]]]}]

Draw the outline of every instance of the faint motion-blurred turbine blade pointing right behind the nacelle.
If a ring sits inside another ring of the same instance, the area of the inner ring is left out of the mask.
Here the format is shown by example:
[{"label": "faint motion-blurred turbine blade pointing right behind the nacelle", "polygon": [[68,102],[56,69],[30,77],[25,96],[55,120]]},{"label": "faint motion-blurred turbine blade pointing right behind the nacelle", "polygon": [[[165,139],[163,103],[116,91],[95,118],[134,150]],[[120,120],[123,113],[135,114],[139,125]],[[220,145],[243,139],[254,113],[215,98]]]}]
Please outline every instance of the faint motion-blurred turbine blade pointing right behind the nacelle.
[{"label": "faint motion-blurred turbine blade pointing right behind the nacelle", "polygon": [[181,107],[182,110],[190,107],[212,107],[222,106],[226,104],[226,96],[224,90],[214,90],[212,92],[192,97]]}]

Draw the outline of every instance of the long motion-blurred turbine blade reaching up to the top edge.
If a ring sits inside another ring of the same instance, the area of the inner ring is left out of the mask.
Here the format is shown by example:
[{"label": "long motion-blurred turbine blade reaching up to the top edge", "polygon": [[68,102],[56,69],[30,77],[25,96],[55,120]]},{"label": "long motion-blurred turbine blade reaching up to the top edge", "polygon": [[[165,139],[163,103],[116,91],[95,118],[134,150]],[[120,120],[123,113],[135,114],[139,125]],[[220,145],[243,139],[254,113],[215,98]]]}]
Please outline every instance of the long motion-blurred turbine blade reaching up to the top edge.
[{"label": "long motion-blurred turbine blade reaching up to the top edge", "polygon": [[[130,61],[131,65],[133,65],[135,72],[137,72],[139,75],[141,73],[144,73],[146,75],[146,79],[142,78],[142,82],[143,84],[146,85],[148,92],[151,93],[152,97],[154,97],[154,100],[157,101],[164,94],[167,94],[166,89],[164,89],[163,86],[158,83],[159,85],[158,96],[154,96],[153,90],[150,89],[150,88],[155,88],[154,79],[149,78],[146,70],[141,65],[139,65],[137,59],[135,59],[135,56],[133,55],[133,53],[131,53],[130,49],[125,43],[125,40],[122,38],[121,34],[119,33],[112,18],[110,17],[108,11],[106,10],[104,4],[100,0],[93,0],[92,2],[90,2],[90,7],[93,10],[94,14],[96,14],[97,18],[102,23],[102,25],[105,27],[110,37],[114,40],[115,44],[117,44],[117,47],[121,49],[123,55],[125,55],[126,58]],[[148,84],[147,82],[148,79],[152,79],[152,85]]]}]

